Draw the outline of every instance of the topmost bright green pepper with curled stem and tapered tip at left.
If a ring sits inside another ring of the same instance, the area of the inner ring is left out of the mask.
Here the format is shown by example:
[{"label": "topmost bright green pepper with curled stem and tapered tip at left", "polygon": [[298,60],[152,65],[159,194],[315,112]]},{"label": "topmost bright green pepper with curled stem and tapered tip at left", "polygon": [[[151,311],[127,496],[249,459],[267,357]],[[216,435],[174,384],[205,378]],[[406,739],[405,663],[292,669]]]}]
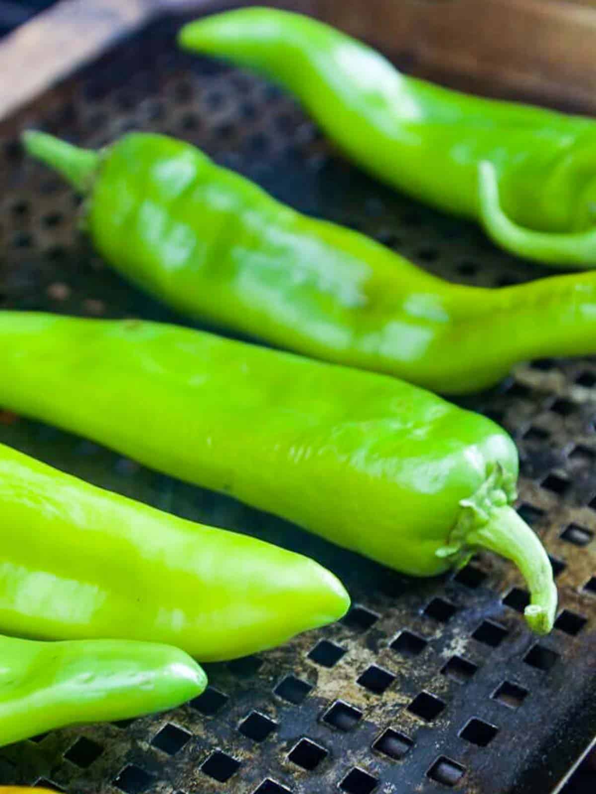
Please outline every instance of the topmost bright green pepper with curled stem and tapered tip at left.
[{"label": "topmost bright green pepper with curled stem and tapered tip at left", "polygon": [[594,119],[407,77],[365,44],[296,13],[233,10],[184,26],[179,40],[281,83],[354,162],[478,220],[508,251],[596,267]]}]

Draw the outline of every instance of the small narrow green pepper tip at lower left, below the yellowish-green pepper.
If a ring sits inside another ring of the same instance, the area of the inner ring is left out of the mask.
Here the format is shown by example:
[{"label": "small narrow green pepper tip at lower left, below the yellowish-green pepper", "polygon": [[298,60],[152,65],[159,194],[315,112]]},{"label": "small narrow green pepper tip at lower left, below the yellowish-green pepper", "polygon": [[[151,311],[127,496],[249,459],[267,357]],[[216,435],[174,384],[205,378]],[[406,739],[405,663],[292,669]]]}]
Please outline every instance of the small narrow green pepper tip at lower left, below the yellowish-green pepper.
[{"label": "small narrow green pepper tip at lower left, below the yellowish-green pepper", "polygon": [[188,654],[151,642],[0,636],[0,659],[0,746],[67,725],[165,711],[207,686]]}]

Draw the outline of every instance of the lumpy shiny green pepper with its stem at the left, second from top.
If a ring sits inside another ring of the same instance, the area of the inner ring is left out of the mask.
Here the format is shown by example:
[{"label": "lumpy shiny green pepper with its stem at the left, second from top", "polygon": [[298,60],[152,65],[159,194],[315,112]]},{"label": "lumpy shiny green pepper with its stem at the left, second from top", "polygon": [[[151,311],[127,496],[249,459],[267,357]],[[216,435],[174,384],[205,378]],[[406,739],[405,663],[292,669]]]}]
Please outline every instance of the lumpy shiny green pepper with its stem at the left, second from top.
[{"label": "lumpy shiny green pepper with its stem at the left, second from top", "polygon": [[100,156],[45,133],[25,145],[87,193],[107,261],[220,326],[445,394],[490,386],[521,360],[596,352],[594,273],[447,283],[172,138],[133,133]]}]

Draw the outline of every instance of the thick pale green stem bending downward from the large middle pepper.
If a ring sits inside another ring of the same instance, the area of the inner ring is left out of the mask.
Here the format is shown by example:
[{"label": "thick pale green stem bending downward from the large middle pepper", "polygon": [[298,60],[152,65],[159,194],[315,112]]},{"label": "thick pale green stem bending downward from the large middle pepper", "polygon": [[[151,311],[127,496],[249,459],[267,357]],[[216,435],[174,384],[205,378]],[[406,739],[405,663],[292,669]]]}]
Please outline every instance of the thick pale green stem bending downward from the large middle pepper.
[{"label": "thick pale green stem bending downward from the large middle pepper", "polygon": [[530,604],[524,610],[528,626],[536,634],[548,634],[557,607],[551,561],[536,533],[513,507],[490,511],[488,522],[466,535],[466,545],[490,549],[517,565],[530,590]]}]

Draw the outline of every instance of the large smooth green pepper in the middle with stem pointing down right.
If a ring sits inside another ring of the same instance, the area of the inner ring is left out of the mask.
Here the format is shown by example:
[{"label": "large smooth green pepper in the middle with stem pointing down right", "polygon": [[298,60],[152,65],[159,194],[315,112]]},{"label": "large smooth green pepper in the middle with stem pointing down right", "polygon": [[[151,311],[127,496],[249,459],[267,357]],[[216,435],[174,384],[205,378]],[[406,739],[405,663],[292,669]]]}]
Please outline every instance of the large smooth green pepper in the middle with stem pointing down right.
[{"label": "large smooth green pepper in the middle with stem pointing down right", "polygon": [[395,569],[432,576],[493,549],[528,582],[530,626],[551,629],[550,561],[510,507],[517,450],[479,414],[394,378],[140,320],[5,310],[0,360],[5,408]]}]

